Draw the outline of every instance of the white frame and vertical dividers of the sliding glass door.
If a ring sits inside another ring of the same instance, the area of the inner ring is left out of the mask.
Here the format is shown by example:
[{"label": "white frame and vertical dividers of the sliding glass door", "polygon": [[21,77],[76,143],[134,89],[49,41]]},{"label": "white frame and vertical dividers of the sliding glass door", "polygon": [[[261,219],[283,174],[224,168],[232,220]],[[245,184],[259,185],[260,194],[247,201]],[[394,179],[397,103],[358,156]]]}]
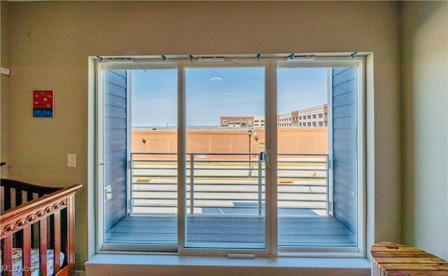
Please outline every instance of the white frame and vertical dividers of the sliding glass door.
[{"label": "white frame and vertical dividers of the sliding glass door", "polygon": [[[237,59],[232,59],[237,60]],[[278,247],[277,246],[277,214],[276,214],[276,185],[266,185],[267,191],[266,191],[266,207],[267,210],[269,209],[269,212],[266,212],[266,249],[263,250],[238,250],[238,249],[190,249],[185,248],[185,242],[184,242],[184,235],[185,233],[185,222],[183,221],[183,215],[185,214],[185,210],[181,210],[185,208],[185,204],[183,204],[183,198],[184,190],[183,190],[183,179],[185,179],[185,171],[184,171],[184,162],[183,160],[185,156],[185,116],[183,115],[185,111],[185,92],[183,91],[183,69],[186,67],[192,67],[192,63],[189,60],[186,59],[172,59],[170,62],[160,62],[160,60],[156,60],[154,57],[151,57],[148,60],[144,60],[141,62],[123,62],[123,63],[117,63],[117,64],[104,64],[102,62],[97,62],[97,68],[96,68],[96,85],[97,85],[97,92],[95,94],[95,102],[101,102],[102,101],[102,69],[144,69],[146,66],[150,66],[151,68],[177,68],[178,69],[178,205],[182,206],[183,208],[179,208],[178,217],[181,217],[182,219],[178,219],[178,246],[177,247],[169,247],[167,246],[164,249],[160,249],[160,247],[153,247],[148,245],[139,245],[139,244],[133,244],[132,249],[133,250],[143,250],[143,251],[158,251],[158,250],[166,250],[166,251],[177,251],[178,254],[213,254],[213,255],[223,255],[226,254],[232,254],[237,252],[238,254],[254,254],[255,256],[356,256],[356,257],[365,257],[365,233],[366,233],[366,177],[365,177],[365,167],[366,167],[366,158],[365,158],[365,60],[363,57],[354,57],[354,58],[347,58],[347,57],[322,57],[319,60],[314,61],[308,61],[308,60],[300,60],[300,61],[290,61],[290,62],[283,62],[283,58],[265,58],[260,61],[256,62],[247,62],[246,59],[244,59],[242,62],[245,62],[244,65],[251,66],[250,64],[265,64],[266,67],[266,95],[265,95],[265,101],[266,101],[266,113],[265,116],[269,118],[269,120],[266,120],[265,125],[265,131],[266,131],[266,148],[271,150],[272,156],[276,156],[276,129],[277,129],[277,122],[276,122],[276,69],[279,67],[279,62],[281,62],[282,67],[357,67],[357,73],[358,73],[358,100],[357,100],[357,122],[358,122],[358,174],[357,174],[357,181],[358,181],[358,191],[357,191],[357,199],[358,199],[358,233],[357,239],[358,239],[358,246],[356,248],[341,248],[341,247],[322,247],[319,249],[316,248],[307,248],[307,247]],[[204,64],[197,64],[198,62],[195,62],[196,64],[193,64],[193,66],[199,66],[204,67]],[[230,66],[228,62],[223,62],[220,64],[219,62],[216,62],[214,64],[211,64],[211,66]],[[235,67],[235,65],[231,65]],[[128,80],[129,82],[129,80]],[[130,86],[128,86],[130,87]],[[100,92],[101,91],[101,92]],[[330,101],[329,101],[330,103]],[[99,106],[99,104],[95,104],[95,106]],[[102,114],[101,109],[97,109],[97,114]],[[331,116],[331,108],[330,104],[328,106],[328,116],[325,116],[325,118],[332,118]],[[327,115],[325,113],[325,115]],[[96,120],[96,127],[95,127],[95,133],[96,133],[96,143],[95,143],[95,154],[96,154],[96,164],[95,170],[96,170],[96,177],[95,177],[95,183],[99,184],[102,181],[102,175],[99,173],[101,171],[101,159],[100,156],[102,155],[102,145],[100,141],[102,141],[102,133],[98,131],[102,127],[102,120],[99,118],[100,116],[97,116]],[[130,116],[129,116],[130,118]],[[331,129],[331,120],[328,121],[328,129]],[[264,125],[264,124],[263,124]],[[330,135],[329,135],[330,137]],[[329,139],[331,140],[331,139]],[[331,141],[329,141],[331,143]],[[332,149],[329,144],[329,149]],[[271,174],[269,175],[269,183],[274,183],[275,181],[272,181],[273,179],[276,179],[276,164],[274,162],[271,164]],[[129,172],[129,170],[128,170]],[[267,178],[268,179],[268,178]],[[332,179],[331,174],[328,176],[328,181],[330,183],[330,186],[332,185]],[[129,185],[129,184],[128,184]],[[329,186],[329,191],[332,191],[332,188]],[[97,193],[97,223],[96,223],[96,240],[97,240],[97,252],[107,252],[110,249],[113,250],[127,250],[130,249],[129,245],[123,245],[123,244],[105,244],[103,241],[103,223],[102,218],[104,216],[104,210],[102,209],[102,204],[100,202],[103,202],[102,198],[102,186],[96,185],[96,193]],[[268,191],[269,189],[269,191]]]}]

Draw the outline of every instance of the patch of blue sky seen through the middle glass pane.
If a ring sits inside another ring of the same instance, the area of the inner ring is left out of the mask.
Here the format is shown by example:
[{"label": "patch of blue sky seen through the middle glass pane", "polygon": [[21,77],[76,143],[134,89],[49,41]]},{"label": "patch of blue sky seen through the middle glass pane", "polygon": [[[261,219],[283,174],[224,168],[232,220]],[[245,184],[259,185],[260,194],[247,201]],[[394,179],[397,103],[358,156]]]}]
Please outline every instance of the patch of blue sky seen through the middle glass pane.
[{"label": "patch of blue sky seen through the middle glass pane", "polygon": [[265,68],[188,68],[187,125],[219,125],[221,116],[263,116]]}]

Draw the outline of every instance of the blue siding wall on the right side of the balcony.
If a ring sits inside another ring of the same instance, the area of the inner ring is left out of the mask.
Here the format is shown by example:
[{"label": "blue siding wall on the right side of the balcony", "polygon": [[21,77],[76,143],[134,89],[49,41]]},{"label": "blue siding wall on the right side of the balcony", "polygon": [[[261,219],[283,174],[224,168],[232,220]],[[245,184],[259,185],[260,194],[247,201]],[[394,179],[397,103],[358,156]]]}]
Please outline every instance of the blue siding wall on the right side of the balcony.
[{"label": "blue siding wall on the right side of the balcony", "polygon": [[332,69],[333,215],[356,234],[356,69]]}]

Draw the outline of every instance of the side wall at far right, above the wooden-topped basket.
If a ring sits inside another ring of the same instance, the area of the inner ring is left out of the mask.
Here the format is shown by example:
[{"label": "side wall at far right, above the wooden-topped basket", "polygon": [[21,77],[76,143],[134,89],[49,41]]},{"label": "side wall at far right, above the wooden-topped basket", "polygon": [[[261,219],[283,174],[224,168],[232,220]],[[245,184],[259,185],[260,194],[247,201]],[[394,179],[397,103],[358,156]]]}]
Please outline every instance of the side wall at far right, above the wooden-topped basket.
[{"label": "side wall at far right, above the wooden-topped basket", "polygon": [[402,2],[404,242],[448,259],[448,2]]}]

